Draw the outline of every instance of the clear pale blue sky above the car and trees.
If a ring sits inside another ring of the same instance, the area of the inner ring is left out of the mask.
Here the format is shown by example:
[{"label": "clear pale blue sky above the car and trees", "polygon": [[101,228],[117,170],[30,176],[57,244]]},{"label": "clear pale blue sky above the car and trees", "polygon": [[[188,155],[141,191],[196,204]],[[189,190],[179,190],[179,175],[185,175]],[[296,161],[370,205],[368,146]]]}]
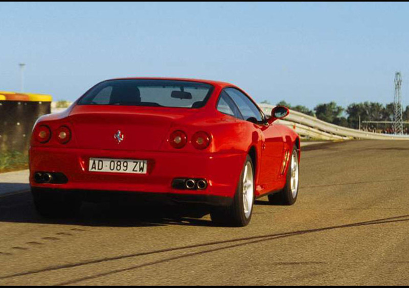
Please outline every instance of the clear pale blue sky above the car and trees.
[{"label": "clear pale blue sky above the car and trees", "polygon": [[407,3],[0,3],[0,90],[75,100],[117,77],[232,82],[256,101],[409,105]]}]

